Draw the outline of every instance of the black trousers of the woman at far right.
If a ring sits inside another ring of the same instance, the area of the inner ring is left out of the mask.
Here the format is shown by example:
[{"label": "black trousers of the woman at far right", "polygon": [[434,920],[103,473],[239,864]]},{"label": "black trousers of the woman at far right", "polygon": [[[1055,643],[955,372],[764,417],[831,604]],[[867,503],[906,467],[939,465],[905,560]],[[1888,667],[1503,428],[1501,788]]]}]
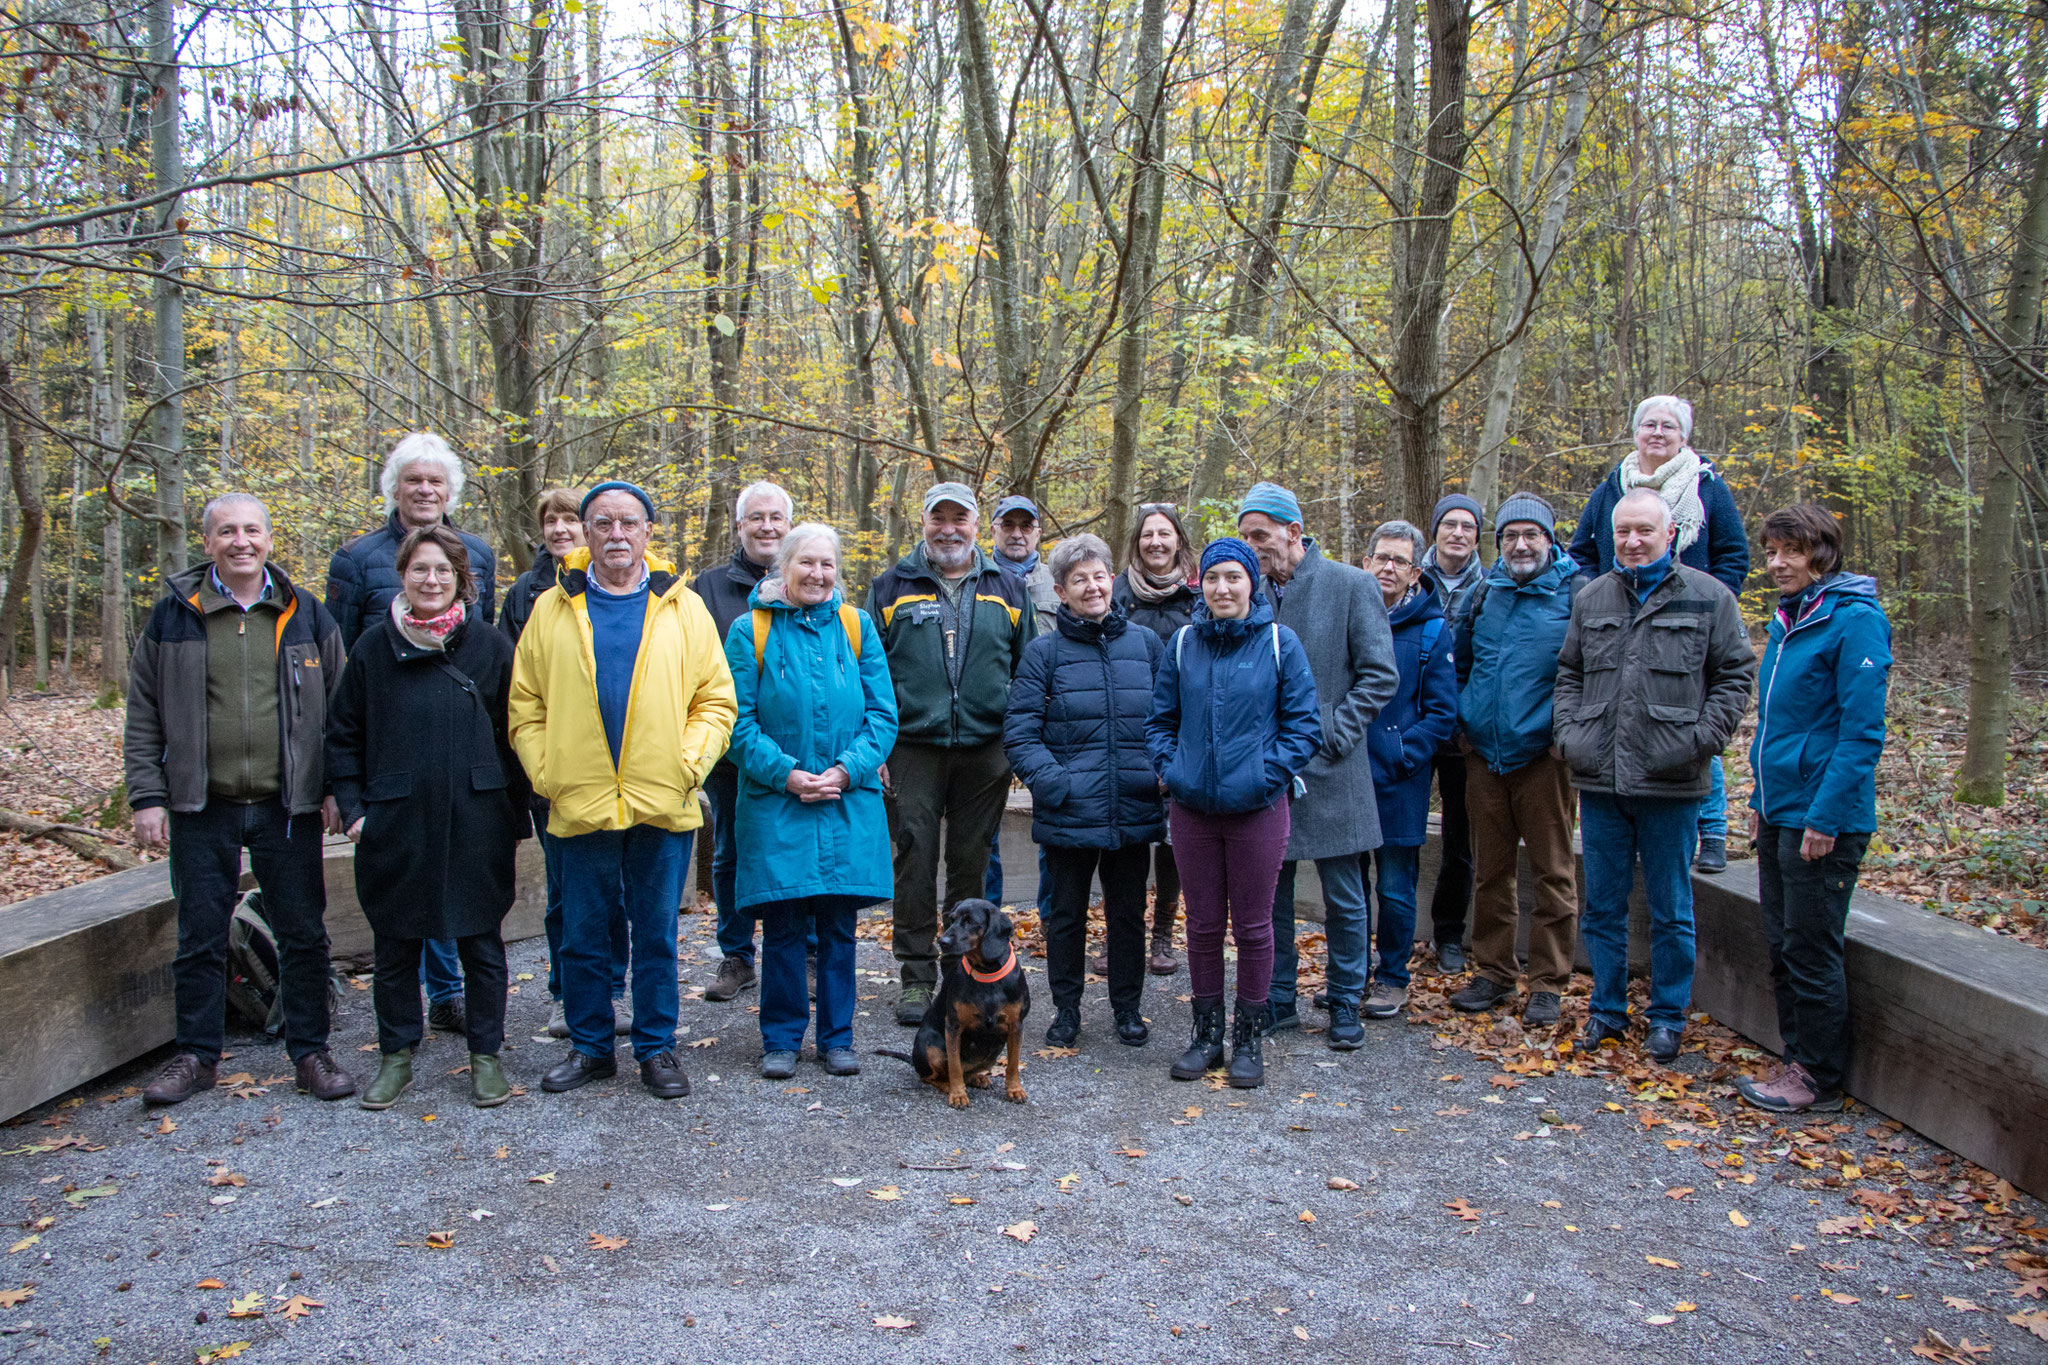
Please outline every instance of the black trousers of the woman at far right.
[{"label": "black trousers of the woman at far right", "polygon": [[1757,839],[1757,902],[1772,945],[1772,988],[1786,1062],[1798,1062],[1821,1091],[1839,1091],[1849,1070],[1849,976],[1841,950],[1849,896],[1870,835],[1839,835],[1835,849],[1806,862],[1806,831],[1765,825]]}]

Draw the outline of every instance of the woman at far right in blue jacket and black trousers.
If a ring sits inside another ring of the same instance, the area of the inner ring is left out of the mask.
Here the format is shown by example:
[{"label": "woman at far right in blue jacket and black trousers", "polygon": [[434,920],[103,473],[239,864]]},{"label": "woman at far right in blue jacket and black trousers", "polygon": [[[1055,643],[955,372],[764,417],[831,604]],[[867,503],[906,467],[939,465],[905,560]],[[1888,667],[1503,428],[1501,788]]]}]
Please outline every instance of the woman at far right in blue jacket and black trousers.
[{"label": "woman at far right in blue jacket and black trousers", "polygon": [[1892,626],[1878,585],[1841,569],[1841,528],[1800,503],[1763,518],[1778,614],[1749,741],[1749,837],[1772,943],[1784,1066],[1735,1083],[1774,1113],[1841,1109],[1849,1070],[1849,896],[1878,829]]}]

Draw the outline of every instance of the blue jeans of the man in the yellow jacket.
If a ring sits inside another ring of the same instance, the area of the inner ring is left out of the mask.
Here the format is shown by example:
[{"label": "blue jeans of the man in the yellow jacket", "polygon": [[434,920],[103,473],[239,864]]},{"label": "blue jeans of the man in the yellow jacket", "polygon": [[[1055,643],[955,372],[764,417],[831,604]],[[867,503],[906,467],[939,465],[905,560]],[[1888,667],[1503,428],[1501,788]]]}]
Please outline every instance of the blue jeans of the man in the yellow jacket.
[{"label": "blue jeans of the man in the yellow jacket", "polygon": [[559,839],[561,1005],[569,1040],[612,1054],[612,917],[633,935],[633,1056],[676,1048],[676,909],[690,870],[690,835],[653,825]]}]

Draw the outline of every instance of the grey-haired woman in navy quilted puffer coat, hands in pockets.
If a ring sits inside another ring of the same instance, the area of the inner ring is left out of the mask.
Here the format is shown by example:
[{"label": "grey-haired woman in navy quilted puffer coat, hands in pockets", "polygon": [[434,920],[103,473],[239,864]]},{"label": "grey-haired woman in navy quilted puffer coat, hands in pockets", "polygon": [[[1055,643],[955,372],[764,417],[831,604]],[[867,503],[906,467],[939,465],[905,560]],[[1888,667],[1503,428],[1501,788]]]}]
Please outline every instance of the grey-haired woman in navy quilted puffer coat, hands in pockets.
[{"label": "grey-haired woman in navy quilted puffer coat, hands in pockets", "polygon": [[1051,571],[1061,602],[1053,632],[1024,647],[1004,714],[1004,749],[1030,788],[1030,833],[1049,874],[1053,1027],[1044,1040],[1071,1048],[1081,1036],[1087,892],[1100,874],[1116,1042],[1141,1048],[1145,872],[1153,841],[1165,837],[1159,778],[1145,751],[1161,645],[1116,608],[1116,565],[1100,536],[1061,540]]}]

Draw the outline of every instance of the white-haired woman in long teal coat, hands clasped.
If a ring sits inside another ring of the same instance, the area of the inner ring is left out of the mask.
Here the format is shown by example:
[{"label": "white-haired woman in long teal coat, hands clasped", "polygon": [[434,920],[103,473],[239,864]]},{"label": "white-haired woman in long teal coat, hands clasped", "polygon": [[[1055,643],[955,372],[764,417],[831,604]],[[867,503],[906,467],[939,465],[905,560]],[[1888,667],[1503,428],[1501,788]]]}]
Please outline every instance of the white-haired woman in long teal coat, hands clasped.
[{"label": "white-haired woman in long teal coat, hands clasped", "polygon": [[782,536],[774,571],[725,636],[739,718],[733,829],[739,909],[762,919],[762,1076],[797,1074],[811,1021],[805,937],[817,925],[817,1060],[854,1054],[854,917],[895,894],[881,765],[895,745],[895,686],[874,622],[840,593],[840,532]]}]

